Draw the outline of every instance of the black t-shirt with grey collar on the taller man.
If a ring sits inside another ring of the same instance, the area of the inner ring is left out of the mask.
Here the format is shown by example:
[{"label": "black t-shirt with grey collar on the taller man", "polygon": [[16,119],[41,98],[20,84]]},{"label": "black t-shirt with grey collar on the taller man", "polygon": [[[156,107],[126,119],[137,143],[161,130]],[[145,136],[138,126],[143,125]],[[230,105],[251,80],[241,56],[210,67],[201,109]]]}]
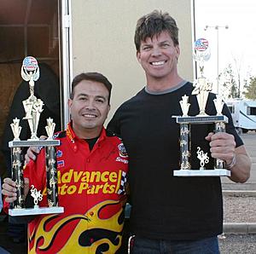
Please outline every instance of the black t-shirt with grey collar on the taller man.
[{"label": "black t-shirt with grey collar on the taller man", "polygon": [[[152,239],[195,240],[222,233],[223,203],[219,177],[177,177],[180,165],[179,124],[172,116],[182,115],[179,101],[189,95],[189,115],[199,113],[193,86],[186,83],[161,95],[142,89],[122,104],[108,129],[122,137],[129,154],[131,188],[131,230]],[[209,94],[207,114],[216,114]],[[223,113],[230,123],[226,131],[242,141],[233,127],[229,110]],[[191,166],[199,169],[196,147],[210,154],[205,136],[213,124],[191,126]],[[213,169],[213,159],[207,168]]]}]

